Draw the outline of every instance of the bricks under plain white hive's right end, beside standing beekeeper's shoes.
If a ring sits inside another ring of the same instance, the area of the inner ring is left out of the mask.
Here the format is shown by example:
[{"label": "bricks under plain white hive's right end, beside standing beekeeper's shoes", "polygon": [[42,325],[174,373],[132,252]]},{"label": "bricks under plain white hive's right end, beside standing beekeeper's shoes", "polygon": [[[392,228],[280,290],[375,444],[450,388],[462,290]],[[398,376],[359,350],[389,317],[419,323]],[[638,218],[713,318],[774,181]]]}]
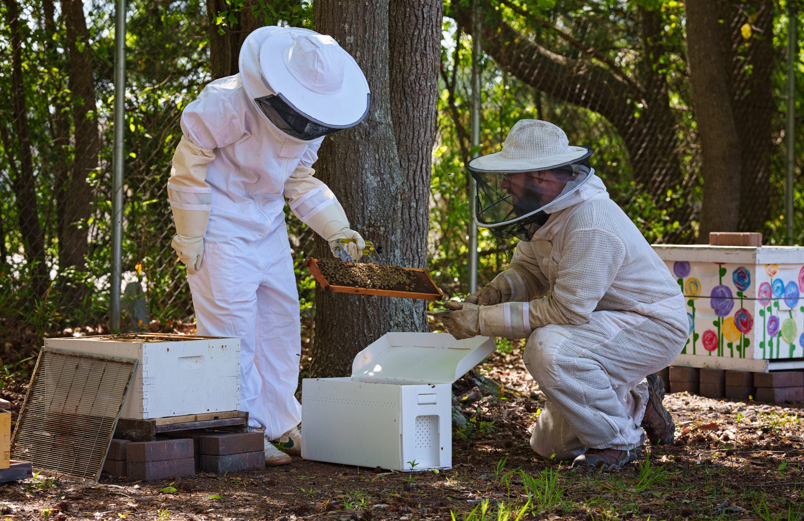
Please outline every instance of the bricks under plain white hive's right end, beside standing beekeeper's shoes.
[{"label": "bricks under plain white hive's right end, beside standing beekeeper's shoes", "polygon": [[263,433],[213,433],[198,440],[205,472],[224,474],[265,467]]}]

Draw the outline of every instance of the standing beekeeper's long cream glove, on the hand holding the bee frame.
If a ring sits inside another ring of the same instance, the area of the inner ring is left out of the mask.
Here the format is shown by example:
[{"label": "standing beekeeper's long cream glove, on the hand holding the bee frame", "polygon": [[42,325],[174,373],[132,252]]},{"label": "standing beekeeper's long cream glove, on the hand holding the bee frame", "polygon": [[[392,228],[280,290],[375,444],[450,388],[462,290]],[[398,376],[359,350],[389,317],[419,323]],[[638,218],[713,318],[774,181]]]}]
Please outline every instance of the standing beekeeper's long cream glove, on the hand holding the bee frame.
[{"label": "standing beekeeper's long cream glove, on the hand holding the bee frame", "polygon": [[285,196],[289,199],[290,209],[302,223],[322,236],[330,244],[332,255],[337,257],[335,247],[338,239],[352,239],[355,242],[343,243],[343,248],[352,260],[363,256],[366,241],[358,232],[349,228],[349,219],[343,211],[341,203],[335,195],[319,179],[314,178],[315,170],[310,166],[297,166],[293,174],[285,181]]}]

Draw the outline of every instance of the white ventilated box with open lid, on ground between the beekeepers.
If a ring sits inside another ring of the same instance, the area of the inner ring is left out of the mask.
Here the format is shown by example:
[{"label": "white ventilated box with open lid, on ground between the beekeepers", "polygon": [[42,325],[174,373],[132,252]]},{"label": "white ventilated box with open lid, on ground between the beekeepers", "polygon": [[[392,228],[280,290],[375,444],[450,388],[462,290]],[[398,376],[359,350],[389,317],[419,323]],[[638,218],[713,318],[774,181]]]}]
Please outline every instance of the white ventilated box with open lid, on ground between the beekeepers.
[{"label": "white ventilated box with open lid, on ground between the beekeepers", "polygon": [[452,384],[495,349],[487,337],[388,333],[346,378],[304,379],[301,456],[390,470],[452,466]]}]

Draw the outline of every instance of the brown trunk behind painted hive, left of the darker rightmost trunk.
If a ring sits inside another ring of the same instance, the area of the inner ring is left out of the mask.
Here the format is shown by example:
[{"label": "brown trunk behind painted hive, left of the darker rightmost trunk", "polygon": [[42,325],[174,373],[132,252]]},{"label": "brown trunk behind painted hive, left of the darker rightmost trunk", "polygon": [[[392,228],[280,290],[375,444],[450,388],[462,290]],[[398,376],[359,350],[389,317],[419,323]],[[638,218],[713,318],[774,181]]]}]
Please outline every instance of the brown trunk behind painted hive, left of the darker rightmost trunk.
[{"label": "brown trunk behind painted hive, left of the darker rightmost trunk", "polygon": [[[698,241],[736,232],[740,222],[740,138],[720,46],[716,0],[687,2],[687,63],[703,157],[704,203]],[[730,71],[728,71],[730,72]]]}]

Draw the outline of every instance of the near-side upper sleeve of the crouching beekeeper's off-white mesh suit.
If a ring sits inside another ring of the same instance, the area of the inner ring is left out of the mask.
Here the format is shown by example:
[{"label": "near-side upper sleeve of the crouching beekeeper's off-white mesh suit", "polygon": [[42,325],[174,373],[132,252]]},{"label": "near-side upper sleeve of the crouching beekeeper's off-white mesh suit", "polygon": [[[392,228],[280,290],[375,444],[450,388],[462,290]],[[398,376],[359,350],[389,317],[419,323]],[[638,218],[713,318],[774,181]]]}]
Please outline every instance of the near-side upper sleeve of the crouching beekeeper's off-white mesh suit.
[{"label": "near-side upper sleeve of the crouching beekeeper's off-white mesh suit", "polygon": [[528,306],[528,322],[533,329],[589,322],[626,257],[620,238],[601,229],[569,232],[563,251],[552,293]]}]

